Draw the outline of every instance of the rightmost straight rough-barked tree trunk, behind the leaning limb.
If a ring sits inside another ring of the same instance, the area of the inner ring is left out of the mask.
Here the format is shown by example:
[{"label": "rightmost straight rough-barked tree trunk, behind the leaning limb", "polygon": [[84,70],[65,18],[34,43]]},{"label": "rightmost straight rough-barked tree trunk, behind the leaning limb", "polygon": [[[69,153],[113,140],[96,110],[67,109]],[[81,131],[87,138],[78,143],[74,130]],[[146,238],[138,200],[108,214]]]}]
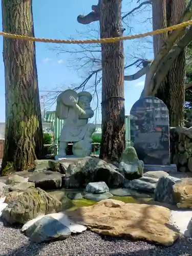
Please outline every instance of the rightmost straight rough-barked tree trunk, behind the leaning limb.
[{"label": "rightmost straight rough-barked tree trunk, behind the leaning limb", "polygon": [[[179,22],[185,10],[185,1],[172,1],[171,23]],[[184,100],[185,100],[185,51],[180,53],[174,61],[168,75],[170,91],[170,126],[184,125]]]}]

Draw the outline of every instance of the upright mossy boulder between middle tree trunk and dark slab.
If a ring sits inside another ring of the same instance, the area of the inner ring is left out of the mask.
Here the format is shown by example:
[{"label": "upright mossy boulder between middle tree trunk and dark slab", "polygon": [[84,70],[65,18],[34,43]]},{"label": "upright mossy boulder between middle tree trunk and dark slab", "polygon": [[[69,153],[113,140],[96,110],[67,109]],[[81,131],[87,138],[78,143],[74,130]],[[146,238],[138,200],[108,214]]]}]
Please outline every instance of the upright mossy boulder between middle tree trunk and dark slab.
[{"label": "upright mossy boulder between middle tree trunk and dark slab", "polygon": [[134,147],[127,147],[121,156],[119,170],[124,172],[127,180],[134,180],[142,177],[144,163],[139,160]]}]

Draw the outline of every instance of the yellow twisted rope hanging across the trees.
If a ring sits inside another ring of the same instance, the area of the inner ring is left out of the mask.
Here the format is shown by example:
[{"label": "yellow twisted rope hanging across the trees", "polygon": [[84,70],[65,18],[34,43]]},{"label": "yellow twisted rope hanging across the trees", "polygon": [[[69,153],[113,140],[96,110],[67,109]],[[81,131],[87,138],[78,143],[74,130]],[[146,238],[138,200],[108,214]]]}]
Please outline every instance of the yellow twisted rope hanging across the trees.
[{"label": "yellow twisted rope hanging across the trees", "polygon": [[183,22],[171,27],[157,29],[151,32],[146,32],[143,34],[136,34],[136,35],[127,35],[121,37],[111,37],[111,38],[100,38],[100,39],[88,39],[88,40],[62,40],[62,39],[49,39],[49,38],[39,38],[39,37],[32,37],[26,35],[16,35],[11,33],[0,32],[0,36],[13,38],[13,39],[22,39],[27,41],[36,41],[36,42],[50,42],[54,44],[102,44],[102,43],[110,43],[110,42],[119,42],[122,40],[131,40],[136,38],[142,38],[146,36],[153,36],[158,34],[164,34],[169,31],[173,31],[176,29],[181,29],[192,25],[192,20],[188,20],[188,22]]}]

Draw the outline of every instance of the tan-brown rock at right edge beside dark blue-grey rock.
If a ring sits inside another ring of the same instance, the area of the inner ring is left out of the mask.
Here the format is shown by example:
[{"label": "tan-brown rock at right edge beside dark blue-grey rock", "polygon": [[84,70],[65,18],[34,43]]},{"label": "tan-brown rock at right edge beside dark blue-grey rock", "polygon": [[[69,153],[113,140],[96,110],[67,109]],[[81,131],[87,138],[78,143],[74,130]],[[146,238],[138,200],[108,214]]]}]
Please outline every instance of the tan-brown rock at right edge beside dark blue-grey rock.
[{"label": "tan-brown rock at right edge beside dark blue-grey rock", "polygon": [[173,186],[174,199],[180,209],[192,209],[192,179],[182,179]]}]

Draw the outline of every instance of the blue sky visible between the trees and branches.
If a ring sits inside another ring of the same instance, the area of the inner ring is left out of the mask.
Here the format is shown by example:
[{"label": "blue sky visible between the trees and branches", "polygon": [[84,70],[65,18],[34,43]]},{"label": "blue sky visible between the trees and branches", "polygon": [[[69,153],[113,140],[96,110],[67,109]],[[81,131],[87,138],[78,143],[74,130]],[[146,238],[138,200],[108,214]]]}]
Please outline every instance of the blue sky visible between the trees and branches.
[{"label": "blue sky visible between the trees and branches", "polygon": [[[129,11],[137,5],[137,1],[133,1],[131,5],[126,3],[130,0],[123,1],[122,11]],[[68,39],[70,36],[78,39],[78,31],[86,31],[86,25],[78,24],[76,18],[79,14],[87,14],[91,10],[91,6],[97,4],[96,0],[33,0],[33,16],[34,28],[36,37]],[[1,4],[0,4],[1,5]],[[141,13],[136,13],[130,18],[129,26],[132,27],[132,34],[151,31],[152,25],[150,20],[144,23],[151,13],[143,10]],[[139,20],[139,22],[138,22]],[[98,24],[95,24],[98,26]],[[0,12],[0,31],[2,31],[2,13]],[[129,33],[125,31],[125,35]],[[80,39],[83,38],[83,35]],[[142,39],[143,40],[143,39]],[[124,43],[125,56],[127,54],[141,57],[145,55],[147,58],[153,58],[152,45],[148,42],[135,39]],[[147,38],[147,40],[152,40]],[[149,46],[149,47],[147,47]],[[55,90],[57,86],[67,88],[70,84],[80,84],[82,82],[81,72],[72,70],[68,67],[71,54],[57,54],[50,48],[56,47],[53,44],[37,43],[36,44],[36,60],[38,70],[38,84],[40,95],[45,95],[45,92]],[[69,49],[70,46],[68,46]],[[150,49],[148,49],[150,48]],[[0,38],[0,122],[5,121],[5,83],[4,83],[4,63],[3,63],[3,38]],[[127,57],[126,63],[131,63],[134,60]],[[136,67],[125,71],[125,74],[136,72]],[[132,105],[139,98],[143,89],[144,77],[136,80],[125,82],[125,113],[129,114]],[[54,109],[54,106],[53,106]],[[100,122],[100,115],[97,117]]]}]

